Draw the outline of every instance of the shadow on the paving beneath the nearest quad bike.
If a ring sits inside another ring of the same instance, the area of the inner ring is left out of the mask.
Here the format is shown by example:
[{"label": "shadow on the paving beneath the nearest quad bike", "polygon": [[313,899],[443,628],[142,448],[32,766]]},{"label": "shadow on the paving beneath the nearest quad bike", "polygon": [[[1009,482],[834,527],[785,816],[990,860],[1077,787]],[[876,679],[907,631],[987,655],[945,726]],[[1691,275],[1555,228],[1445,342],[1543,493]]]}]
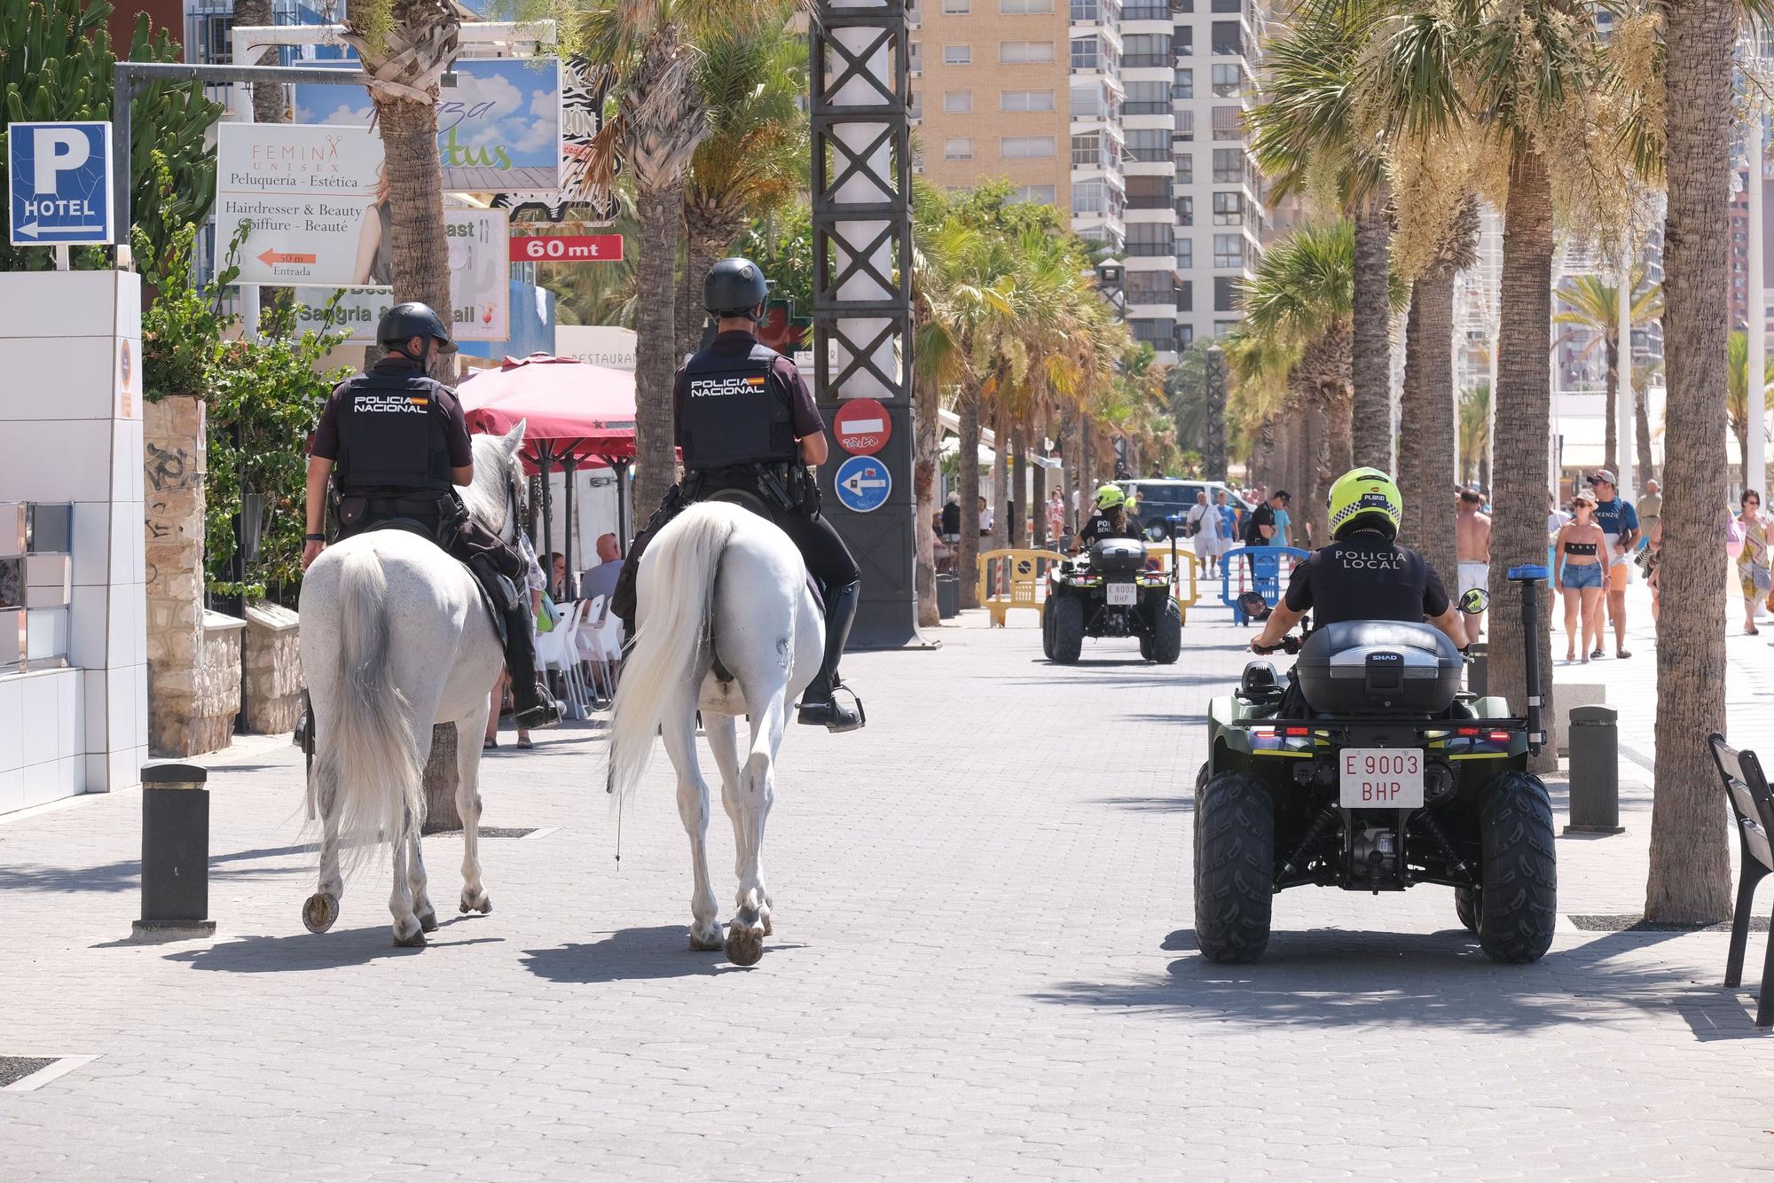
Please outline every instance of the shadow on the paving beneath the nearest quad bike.
[{"label": "shadow on the paving beneath the nearest quad bike", "polygon": [[1417,1025],[1519,1032],[1570,1023],[1680,1016],[1696,1039],[1754,1039],[1746,999],[1728,991],[1724,944],[1710,942],[1714,974],[1676,961],[1623,961],[1621,954],[1682,936],[1609,933],[1554,949],[1538,965],[1495,965],[1465,929],[1373,933],[1276,931],[1256,965],[1215,965],[1194,952],[1192,928],[1166,936],[1189,951],[1164,975],[1121,983],[1059,983],[1043,1002],[1121,1013],[1174,1013],[1274,1027]]}]

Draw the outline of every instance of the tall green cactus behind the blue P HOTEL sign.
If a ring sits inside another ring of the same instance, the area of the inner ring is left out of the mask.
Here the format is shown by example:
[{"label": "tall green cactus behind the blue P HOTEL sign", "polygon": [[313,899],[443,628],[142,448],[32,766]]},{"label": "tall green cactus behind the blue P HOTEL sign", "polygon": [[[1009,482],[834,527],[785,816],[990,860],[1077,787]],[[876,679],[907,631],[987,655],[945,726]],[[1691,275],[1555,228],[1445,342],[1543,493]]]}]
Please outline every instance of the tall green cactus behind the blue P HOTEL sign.
[{"label": "tall green cactus behind the blue P HOTEL sign", "polygon": [[[99,0],[0,0],[0,186],[5,181],[7,122],[112,117],[112,51],[105,21],[110,5]],[[179,46],[165,30],[149,32],[147,14],[137,18],[131,62],[176,62]],[[131,209],[161,200],[151,154],[158,149],[172,172],[174,209],[151,218],[177,227],[202,222],[215,200],[215,151],[204,145],[220,105],[195,83],[156,82],[142,87],[131,105],[130,179]],[[151,248],[167,248],[151,236]],[[0,243],[0,271],[41,271],[53,266],[51,252]],[[106,252],[82,248],[75,266],[106,266]]]}]

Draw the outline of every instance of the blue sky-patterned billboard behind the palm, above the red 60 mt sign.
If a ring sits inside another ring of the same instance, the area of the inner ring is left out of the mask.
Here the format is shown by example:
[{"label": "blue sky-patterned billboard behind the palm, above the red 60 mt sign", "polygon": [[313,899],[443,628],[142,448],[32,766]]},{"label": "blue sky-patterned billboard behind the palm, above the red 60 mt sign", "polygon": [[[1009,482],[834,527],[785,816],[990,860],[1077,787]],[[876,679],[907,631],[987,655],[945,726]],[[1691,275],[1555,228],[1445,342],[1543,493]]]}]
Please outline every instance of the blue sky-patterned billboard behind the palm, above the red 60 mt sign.
[{"label": "blue sky-patterned billboard behind the palm, above the red 60 mt sign", "polygon": [[[451,69],[456,85],[438,98],[444,190],[561,188],[561,59],[456,59]],[[362,87],[294,87],[298,124],[369,126],[373,114]]]}]

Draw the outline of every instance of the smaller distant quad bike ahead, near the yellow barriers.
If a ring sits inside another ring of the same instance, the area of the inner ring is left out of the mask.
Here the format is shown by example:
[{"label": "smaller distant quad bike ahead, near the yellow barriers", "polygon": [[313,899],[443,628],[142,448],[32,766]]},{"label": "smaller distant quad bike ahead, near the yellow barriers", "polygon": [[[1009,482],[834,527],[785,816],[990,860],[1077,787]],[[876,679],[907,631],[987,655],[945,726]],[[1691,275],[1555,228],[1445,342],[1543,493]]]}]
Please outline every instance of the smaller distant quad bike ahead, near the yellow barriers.
[{"label": "smaller distant quad bike ahead, near the yellow barriers", "polygon": [[1174,550],[1173,541],[1169,571],[1150,571],[1144,543],[1105,537],[1089,553],[1048,568],[1041,653],[1050,662],[1071,665],[1086,637],[1137,637],[1139,656],[1174,665],[1183,653]]}]

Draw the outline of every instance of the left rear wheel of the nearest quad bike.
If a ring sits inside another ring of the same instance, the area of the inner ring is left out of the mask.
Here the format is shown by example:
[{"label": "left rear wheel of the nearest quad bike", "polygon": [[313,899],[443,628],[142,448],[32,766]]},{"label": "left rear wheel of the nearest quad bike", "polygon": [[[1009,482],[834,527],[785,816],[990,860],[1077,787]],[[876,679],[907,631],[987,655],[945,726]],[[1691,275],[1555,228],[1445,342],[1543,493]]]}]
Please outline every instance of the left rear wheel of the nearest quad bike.
[{"label": "left rear wheel of the nearest quad bike", "polygon": [[1196,944],[1208,961],[1249,965],[1268,947],[1276,803],[1242,772],[1201,786],[1196,812]]}]

